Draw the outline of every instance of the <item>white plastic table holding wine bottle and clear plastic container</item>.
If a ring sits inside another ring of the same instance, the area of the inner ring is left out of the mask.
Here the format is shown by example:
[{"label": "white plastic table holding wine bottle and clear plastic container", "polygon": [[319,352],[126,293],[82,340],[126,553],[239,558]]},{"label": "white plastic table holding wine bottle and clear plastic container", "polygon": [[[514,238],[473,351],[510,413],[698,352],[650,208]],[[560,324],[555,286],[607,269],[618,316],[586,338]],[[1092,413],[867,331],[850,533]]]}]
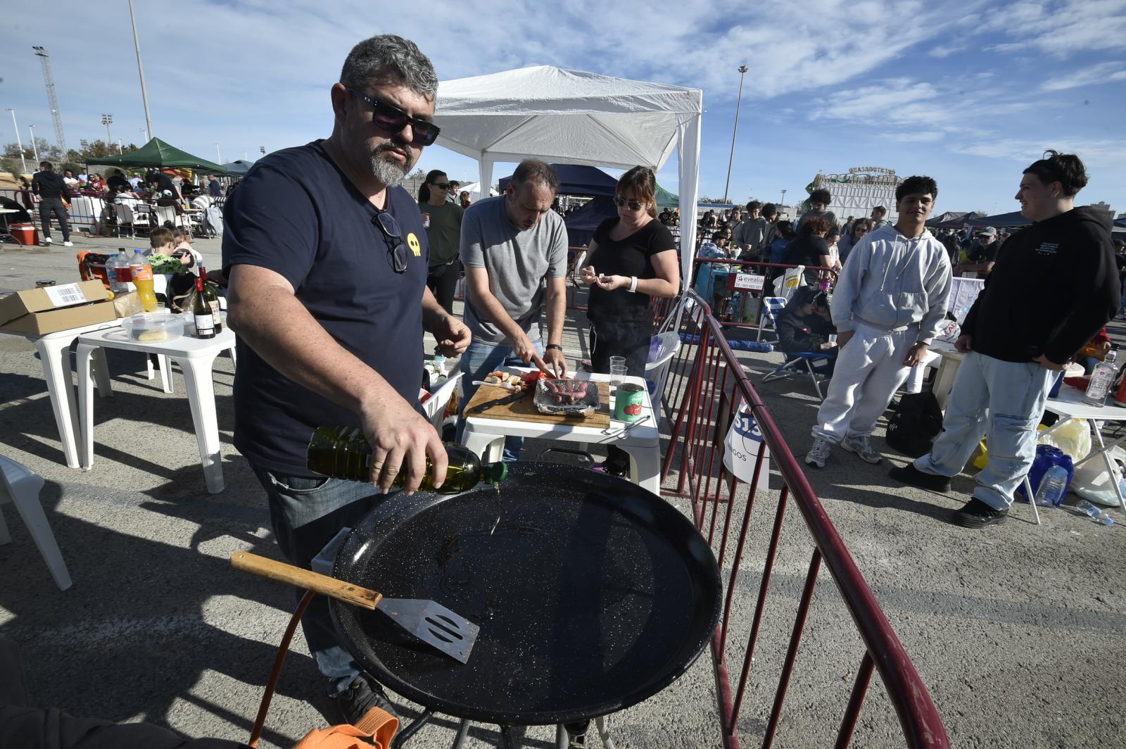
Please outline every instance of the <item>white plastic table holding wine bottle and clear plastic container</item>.
[{"label": "white plastic table holding wine bottle and clear plastic container", "polygon": [[142,342],[129,339],[124,329],[102,330],[81,336],[77,362],[78,402],[82,425],[82,467],[89,470],[93,465],[93,383],[90,380],[90,357],[101,348],[157,354],[171,358],[184,371],[207,491],[213,494],[223,491],[223,462],[220,455],[218,421],[215,417],[212,364],[221,351],[233,349],[234,342],[234,333],[225,327],[215,338],[206,340],[182,336],[169,341]]}]

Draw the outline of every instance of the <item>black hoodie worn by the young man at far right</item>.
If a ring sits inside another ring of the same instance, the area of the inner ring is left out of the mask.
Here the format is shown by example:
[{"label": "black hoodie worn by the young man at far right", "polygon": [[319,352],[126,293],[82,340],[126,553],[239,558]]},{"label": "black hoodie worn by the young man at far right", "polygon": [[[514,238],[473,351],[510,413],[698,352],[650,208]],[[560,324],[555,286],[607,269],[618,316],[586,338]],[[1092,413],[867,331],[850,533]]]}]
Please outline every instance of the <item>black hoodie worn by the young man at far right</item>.
[{"label": "black hoodie worn by the young man at far right", "polygon": [[1110,225],[1084,206],[1010,237],[962,326],[973,350],[1003,362],[1074,356],[1118,311]]}]

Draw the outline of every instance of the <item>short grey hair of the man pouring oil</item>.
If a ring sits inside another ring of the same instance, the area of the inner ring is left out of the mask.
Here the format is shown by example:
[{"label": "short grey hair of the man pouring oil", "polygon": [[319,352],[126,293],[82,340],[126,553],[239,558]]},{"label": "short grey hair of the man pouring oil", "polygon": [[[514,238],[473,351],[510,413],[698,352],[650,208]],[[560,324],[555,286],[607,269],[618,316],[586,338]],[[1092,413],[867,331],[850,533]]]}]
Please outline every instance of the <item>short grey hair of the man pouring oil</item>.
[{"label": "short grey hair of the man pouring oil", "polygon": [[418,45],[394,34],[381,34],[352,47],[340,70],[347,89],[363,90],[373,83],[400,84],[428,99],[438,92],[438,75]]}]

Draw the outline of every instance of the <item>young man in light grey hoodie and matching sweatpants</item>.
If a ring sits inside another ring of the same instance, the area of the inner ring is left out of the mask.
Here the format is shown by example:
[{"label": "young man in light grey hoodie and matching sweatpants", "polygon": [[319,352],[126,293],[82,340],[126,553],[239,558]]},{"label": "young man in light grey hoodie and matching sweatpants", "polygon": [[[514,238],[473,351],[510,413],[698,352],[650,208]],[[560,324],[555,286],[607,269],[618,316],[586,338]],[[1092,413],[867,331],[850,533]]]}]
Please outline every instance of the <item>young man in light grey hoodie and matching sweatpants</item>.
[{"label": "young man in light grey hoodie and matching sweatpants", "polygon": [[924,226],[937,197],[930,177],[906,178],[895,188],[896,224],[866,234],[849,252],[831,304],[841,348],[805,456],[810,465],[824,467],[835,444],[868,463],[882,460],[869,436],[927,355],[950,296],[946,248]]}]

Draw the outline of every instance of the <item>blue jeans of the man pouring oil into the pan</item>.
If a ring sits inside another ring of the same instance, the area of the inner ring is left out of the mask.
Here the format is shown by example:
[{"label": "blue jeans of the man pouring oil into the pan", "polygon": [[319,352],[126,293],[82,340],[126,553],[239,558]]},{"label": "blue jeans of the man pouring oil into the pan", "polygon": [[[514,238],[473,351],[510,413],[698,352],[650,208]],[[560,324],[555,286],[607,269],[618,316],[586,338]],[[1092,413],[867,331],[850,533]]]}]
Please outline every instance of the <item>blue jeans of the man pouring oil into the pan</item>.
[{"label": "blue jeans of the man pouring oil into the pan", "polygon": [[[340,528],[351,527],[385,499],[377,488],[360,481],[283,476],[253,464],[251,467],[266,489],[270,525],[282,554],[306,570]],[[303,595],[303,590],[297,591],[298,599]],[[337,639],[329,599],[314,598],[301,625],[318,670],[329,680],[328,694],[347,688],[360,667]]]}]

